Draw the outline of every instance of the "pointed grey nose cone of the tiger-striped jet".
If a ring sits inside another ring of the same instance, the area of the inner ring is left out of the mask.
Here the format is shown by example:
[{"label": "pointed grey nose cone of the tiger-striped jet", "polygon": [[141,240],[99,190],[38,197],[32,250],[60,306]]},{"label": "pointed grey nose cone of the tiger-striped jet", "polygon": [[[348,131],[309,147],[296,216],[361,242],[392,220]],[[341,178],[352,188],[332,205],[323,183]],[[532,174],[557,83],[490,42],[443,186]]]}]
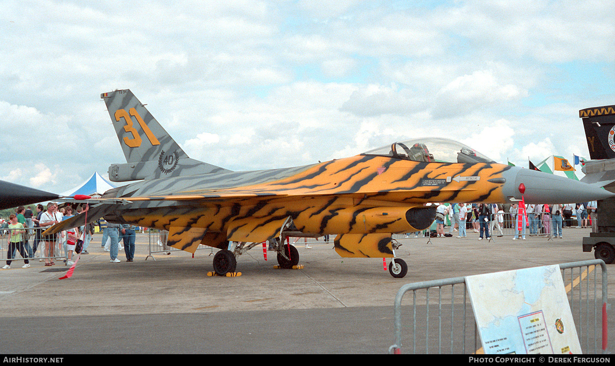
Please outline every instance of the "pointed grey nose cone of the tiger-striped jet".
[{"label": "pointed grey nose cone of the tiger-striped jet", "polygon": [[512,176],[506,179],[504,194],[507,198],[521,199],[519,186],[523,184],[525,186],[523,198],[526,203],[566,204],[597,201],[615,196],[614,193],[582,181],[518,167],[511,170]]}]

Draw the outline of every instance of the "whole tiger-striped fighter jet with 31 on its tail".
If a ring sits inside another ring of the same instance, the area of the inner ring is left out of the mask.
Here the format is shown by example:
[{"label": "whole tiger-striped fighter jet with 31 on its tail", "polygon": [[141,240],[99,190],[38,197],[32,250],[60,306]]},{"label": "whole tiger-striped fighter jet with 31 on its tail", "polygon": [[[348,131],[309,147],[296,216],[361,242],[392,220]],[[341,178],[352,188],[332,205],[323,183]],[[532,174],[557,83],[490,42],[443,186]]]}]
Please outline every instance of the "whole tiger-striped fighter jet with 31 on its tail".
[{"label": "whole tiger-striped fighter jet with 31 on its tail", "polygon": [[[397,141],[342,159],[286,169],[232,172],[188,157],[130,90],[103,93],[126,164],[109,167],[116,182],[87,220],[104,217],[169,231],[169,245],[194,253],[220,249],[215,273],[230,276],[236,257],[277,239],[282,268],[299,261],[285,237],[335,235],[341,257],[393,258],[393,233],[429,228],[434,202],[578,202],[613,194],[579,181],[494,162],[452,140]],[[105,202],[105,199],[108,202]],[[50,229],[83,225],[77,215]]]}]

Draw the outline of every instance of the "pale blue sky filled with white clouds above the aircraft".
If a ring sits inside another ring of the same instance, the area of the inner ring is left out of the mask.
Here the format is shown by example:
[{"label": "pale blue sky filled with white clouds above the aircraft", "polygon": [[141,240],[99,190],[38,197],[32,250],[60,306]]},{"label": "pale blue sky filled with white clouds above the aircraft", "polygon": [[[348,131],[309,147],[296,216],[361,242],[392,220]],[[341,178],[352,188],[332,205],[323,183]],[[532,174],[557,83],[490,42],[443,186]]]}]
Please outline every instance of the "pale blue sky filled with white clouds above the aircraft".
[{"label": "pale blue sky filled with white clouds above the aircraft", "polygon": [[231,170],[446,137],[518,166],[589,158],[615,104],[615,2],[0,2],[0,180],[54,193],[125,162],[100,93],[130,89]]}]

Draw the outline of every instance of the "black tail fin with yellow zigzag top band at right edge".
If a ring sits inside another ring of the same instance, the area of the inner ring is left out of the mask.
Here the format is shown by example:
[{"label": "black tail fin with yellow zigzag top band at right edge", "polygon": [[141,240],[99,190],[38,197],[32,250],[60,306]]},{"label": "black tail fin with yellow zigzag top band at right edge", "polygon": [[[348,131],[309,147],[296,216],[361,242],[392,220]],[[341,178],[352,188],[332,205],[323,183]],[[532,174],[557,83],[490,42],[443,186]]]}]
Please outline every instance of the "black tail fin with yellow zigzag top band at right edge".
[{"label": "black tail fin with yellow zigzag top band at right edge", "polygon": [[581,109],[579,117],[583,119],[590,158],[614,158],[615,105]]}]

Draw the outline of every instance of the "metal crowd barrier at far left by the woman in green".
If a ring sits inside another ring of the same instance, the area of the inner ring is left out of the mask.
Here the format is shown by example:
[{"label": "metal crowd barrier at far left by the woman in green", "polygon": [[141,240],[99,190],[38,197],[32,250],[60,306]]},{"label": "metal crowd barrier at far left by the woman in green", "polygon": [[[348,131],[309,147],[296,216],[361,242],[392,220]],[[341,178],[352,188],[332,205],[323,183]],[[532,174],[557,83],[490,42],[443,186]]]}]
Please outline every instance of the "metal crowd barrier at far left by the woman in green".
[{"label": "metal crowd barrier at far left by the woman in green", "polygon": [[[20,253],[20,245],[10,245],[11,232],[14,230],[23,229],[0,229],[0,260],[6,261],[25,261],[27,260],[68,260],[68,253],[66,252],[66,234],[64,237],[60,233],[57,234],[57,239],[54,243],[54,256],[46,257],[45,245],[47,242],[43,242],[41,239],[41,233],[47,228],[25,228],[26,233],[22,234],[22,248],[26,253],[26,257],[22,257]],[[12,247],[12,253],[9,253],[9,247]]]}]

